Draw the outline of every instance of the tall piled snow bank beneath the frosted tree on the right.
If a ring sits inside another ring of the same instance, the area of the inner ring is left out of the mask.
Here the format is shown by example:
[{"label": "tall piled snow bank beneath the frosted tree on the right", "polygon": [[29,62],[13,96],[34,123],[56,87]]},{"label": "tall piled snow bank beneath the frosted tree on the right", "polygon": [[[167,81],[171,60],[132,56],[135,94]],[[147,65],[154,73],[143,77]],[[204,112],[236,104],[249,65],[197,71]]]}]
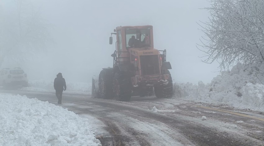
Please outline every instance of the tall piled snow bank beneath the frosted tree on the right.
[{"label": "tall piled snow bank beneath the frosted tree on the right", "polygon": [[223,71],[208,84],[202,81],[198,85],[175,83],[174,98],[264,111],[263,75],[256,76],[257,70],[256,66],[238,63],[231,71]]}]

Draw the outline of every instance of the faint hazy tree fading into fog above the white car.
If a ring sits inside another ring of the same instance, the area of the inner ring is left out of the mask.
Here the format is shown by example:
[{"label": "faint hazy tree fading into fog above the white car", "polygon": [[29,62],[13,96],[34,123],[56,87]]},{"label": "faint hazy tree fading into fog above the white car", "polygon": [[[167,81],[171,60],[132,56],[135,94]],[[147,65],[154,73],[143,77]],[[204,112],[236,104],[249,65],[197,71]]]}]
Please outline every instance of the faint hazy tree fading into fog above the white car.
[{"label": "faint hazy tree fading into fog above the white car", "polygon": [[0,66],[4,58],[16,58],[17,62],[20,62],[29,56],[28,54],[45,50],[46,44],[51,41],[48,24],[31,2],[13,2],[13,9],[2,9],[0,14]]}]

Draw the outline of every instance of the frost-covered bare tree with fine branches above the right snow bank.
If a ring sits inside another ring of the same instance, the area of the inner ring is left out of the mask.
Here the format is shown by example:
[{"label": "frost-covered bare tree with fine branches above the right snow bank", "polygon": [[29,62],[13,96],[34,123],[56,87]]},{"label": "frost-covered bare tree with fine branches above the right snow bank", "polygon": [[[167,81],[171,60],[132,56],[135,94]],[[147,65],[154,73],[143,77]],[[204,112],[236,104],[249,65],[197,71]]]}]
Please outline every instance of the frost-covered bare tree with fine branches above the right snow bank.
[{"label": "frost-covered bare tree with fine branches above the right snow bank", "polygon": [[212,0],[204,8],[211,14],[208,22],[199,25],[202,37],[198,49],[203,62],[219,62],[226,69],[237,62],[262,64],[264,61],[264,1]]}]

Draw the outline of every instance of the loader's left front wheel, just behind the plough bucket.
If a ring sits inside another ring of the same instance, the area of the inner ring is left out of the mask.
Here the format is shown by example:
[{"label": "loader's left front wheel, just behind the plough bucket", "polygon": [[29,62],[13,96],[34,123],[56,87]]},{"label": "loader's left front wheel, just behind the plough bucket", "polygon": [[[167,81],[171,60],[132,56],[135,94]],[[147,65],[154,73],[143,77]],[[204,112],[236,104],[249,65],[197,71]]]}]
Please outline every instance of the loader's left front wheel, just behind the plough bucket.
[{"label": "loader's left front wheel, just behind the plough bucket", "polygon": [[99,74],[99,98],[112,99],[114,97],[113,89],[113,72],[112,69],[104,69]]}]

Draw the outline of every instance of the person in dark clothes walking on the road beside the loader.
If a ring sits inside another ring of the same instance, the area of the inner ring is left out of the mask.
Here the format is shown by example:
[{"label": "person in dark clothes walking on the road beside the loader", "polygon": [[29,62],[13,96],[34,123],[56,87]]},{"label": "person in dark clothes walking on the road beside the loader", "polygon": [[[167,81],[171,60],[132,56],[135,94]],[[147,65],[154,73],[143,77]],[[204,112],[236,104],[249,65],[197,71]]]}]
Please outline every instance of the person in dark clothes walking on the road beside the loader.
[{"label": "person in dark clothes walking on the road beside the loader", "polygon": [[61,73],[57,74],[57,78],[54,79],[54,89],[56,90],[56,97],[58,98],[58,104],[61,104],[62,92],[66,90],[66,82]]}]

